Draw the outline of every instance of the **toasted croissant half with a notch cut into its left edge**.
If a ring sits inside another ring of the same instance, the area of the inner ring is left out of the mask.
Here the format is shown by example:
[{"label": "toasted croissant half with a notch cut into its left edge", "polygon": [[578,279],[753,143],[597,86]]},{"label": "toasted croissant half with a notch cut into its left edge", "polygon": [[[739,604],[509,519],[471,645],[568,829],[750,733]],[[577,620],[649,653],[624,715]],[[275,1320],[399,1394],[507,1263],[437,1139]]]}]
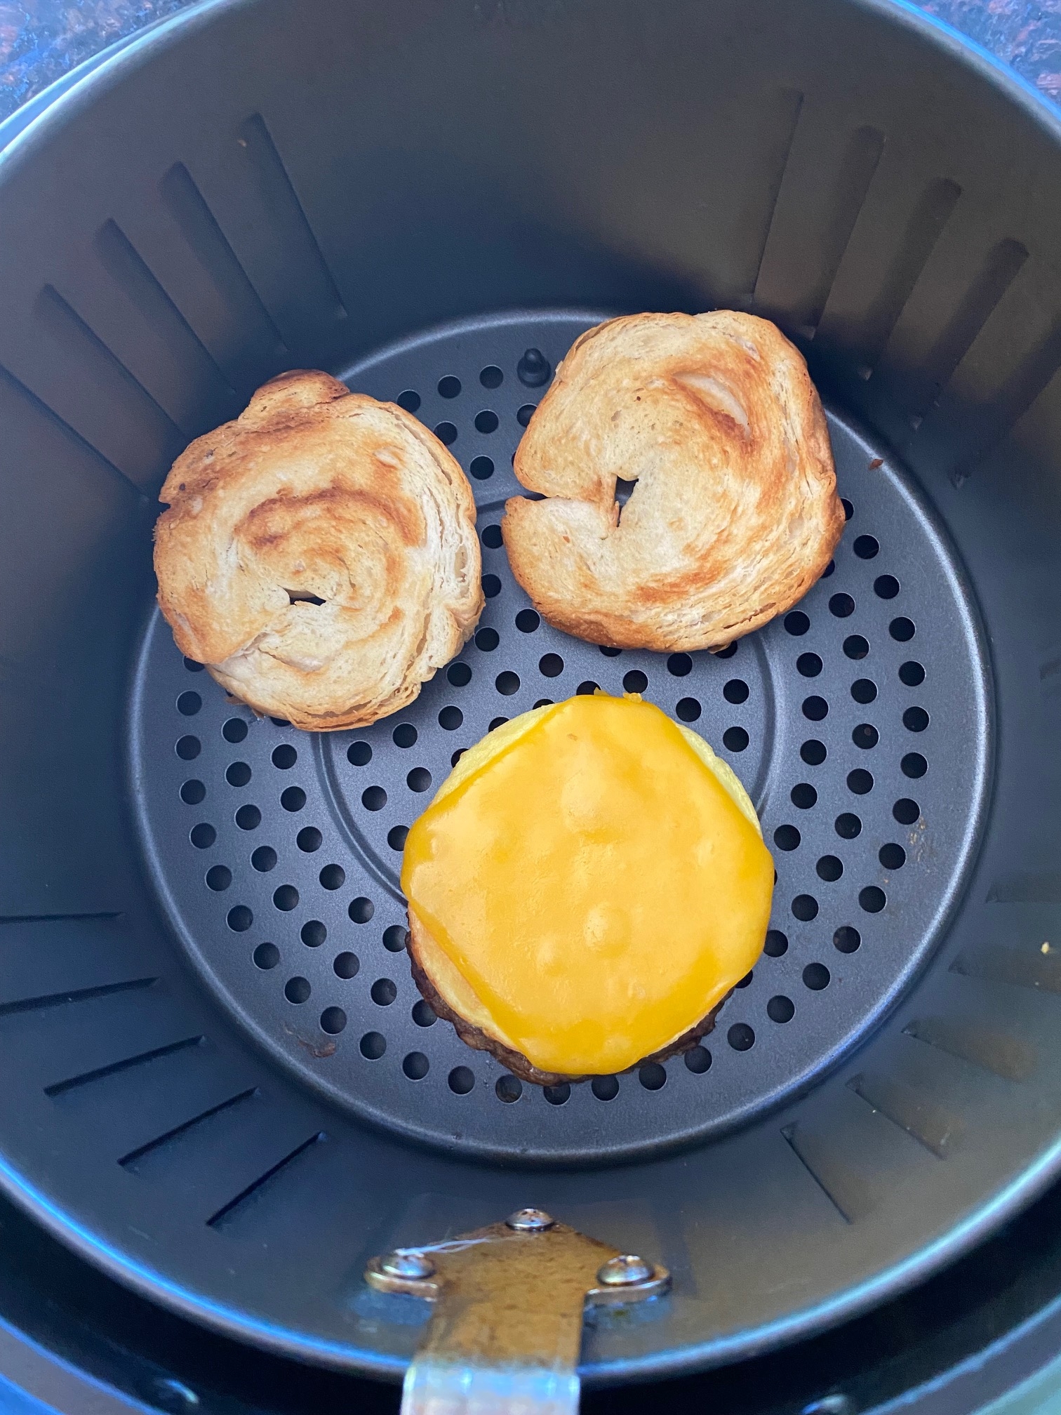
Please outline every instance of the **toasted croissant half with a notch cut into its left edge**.
[{"label": "toasted croissant half with a notch cut into its left edge", "polygon": [[[801,354],[750,314],[635,314],[583,334],[516,450],[545,501],[502,532],[540,614],[596,644],[723,648],[799,600],[845,515]],[[617,480],[637,483],[625,507]]]}]

